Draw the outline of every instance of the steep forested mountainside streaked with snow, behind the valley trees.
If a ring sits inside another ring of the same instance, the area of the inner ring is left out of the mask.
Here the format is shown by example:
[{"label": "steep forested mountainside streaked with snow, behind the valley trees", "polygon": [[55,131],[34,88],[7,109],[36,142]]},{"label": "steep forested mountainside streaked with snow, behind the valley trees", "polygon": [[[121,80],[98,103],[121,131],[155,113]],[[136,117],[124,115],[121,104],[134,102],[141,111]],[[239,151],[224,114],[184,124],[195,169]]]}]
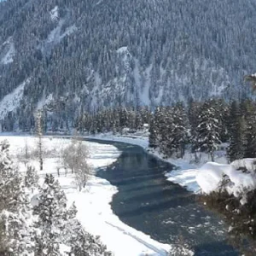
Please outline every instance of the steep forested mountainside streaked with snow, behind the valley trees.
[{"label": "steep forested mountainside streaked with snow, behind the valley trees", "polygon": [[30,130],[38,108],[65,130],[104,106],[246,96],[255,9],[253,0],[1,2],[2,129]]}]

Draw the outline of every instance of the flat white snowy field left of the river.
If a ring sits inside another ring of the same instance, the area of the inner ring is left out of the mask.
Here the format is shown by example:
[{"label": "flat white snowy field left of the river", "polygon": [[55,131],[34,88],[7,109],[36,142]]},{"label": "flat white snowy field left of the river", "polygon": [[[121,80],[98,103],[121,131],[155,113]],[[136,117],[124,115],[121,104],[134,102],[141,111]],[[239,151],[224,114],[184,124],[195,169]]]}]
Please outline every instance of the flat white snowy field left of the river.
[{"label": "flat white snowy field left of the river", "polygon": [[[34,137],[0,137],[0,140],[7,139],[10,143],[10,154],[15,156],[28,148],[35,148],[37,140]],[[137,231],[122,223],[112,212],[109,203],[117,193],[116,187],[99,177],[92,175],[85,189],[81,192],[76,188],[73,175],[68,173],[65,176],[61,170],[60,177],[57,175],[57,166],[61,165],[60,152],[70,140],[61,138],[45,137],[43,140],[44,149],[49,153],[44,160],[44,171],[38,172],[40,182],[43,183],[45,173],[52,173],[61,183],[61,188],[67,195],[71,205],[75,201],[78,207],[77,218],[83,224],[84,229],[94,236],[101,236],[101,240],[107,245],[108,250],[115,256],[143,256],[143,255],[166,255],[171,249],[169,245],[161,244],[152,240],[149,236]],[[119,150],[111,145],[99,143],[86,143],[90,151],[90,165],[94,170],[99,167],[111,165],[119,157]],[[25,171],[25,166],[18,163],[20,171]],[[38,169],[38,163],[32,161],[32,165]]]}]

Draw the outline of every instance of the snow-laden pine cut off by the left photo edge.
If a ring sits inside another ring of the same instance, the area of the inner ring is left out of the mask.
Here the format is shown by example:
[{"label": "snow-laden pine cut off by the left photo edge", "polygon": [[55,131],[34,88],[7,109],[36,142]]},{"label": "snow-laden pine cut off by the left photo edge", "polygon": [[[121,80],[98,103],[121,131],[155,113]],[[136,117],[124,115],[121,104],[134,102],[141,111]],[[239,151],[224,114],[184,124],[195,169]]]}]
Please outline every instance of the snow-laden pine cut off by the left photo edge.
[{"label": "snow-laden pine cut off by the left photo edge", "polygon": [[9,157],[9,143],[0,144],[0,254],[22,256],[32,252],[29,204],[20,173]]}]

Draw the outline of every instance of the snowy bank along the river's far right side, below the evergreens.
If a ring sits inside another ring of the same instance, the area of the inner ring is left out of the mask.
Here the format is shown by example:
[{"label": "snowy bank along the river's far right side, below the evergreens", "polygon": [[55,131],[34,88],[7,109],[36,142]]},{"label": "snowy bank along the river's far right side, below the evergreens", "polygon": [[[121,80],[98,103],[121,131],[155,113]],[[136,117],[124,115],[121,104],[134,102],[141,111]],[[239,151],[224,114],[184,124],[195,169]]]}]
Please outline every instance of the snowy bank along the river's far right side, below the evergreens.
[{"label": "snowy bank along the river's far right side, below the evergreens", "polygon": [[[172,183],[177,183],[191,192],[200,191],[209,194],[217,191],[223,178],[230,180],[225,188],[230,195],[241,197],[241,204],[247,202],[245,191],[256,188],[256,168],[255,159],[236,160],[228,165],[228,160],[224,150],[215,152],[215,162],[211,162],[207,154],[201,153],[201,159],[198,163],[194,162],[194,155],[186,153],[183,159],[166,159],[158,150],[148,148],[147,136],[113,136],[112,134],[98,134],[88,138],[95,138],[105,141],[120,143],[131,143],[144,148],[148,154],[153,154],[160,160],[169,162],[176,166],[172,172],[166,173],[166,178]],[[223,145],[227,147],[227,145]],[[239,171],[241,170],[241,171]],[[247,170],[246,172],[244,170]]]}]

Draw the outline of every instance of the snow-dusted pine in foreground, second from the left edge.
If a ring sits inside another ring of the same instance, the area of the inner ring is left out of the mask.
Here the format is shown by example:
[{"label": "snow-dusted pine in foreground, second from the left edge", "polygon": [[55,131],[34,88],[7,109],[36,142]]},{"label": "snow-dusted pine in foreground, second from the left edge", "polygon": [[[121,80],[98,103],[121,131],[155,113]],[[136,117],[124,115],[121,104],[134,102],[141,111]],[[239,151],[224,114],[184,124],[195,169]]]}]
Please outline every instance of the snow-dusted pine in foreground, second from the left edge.
[{"label": "snow-dusted pine in foreground, second from the left edge", "polygon": [[65,225],[74,218],[73,207],[67,210],[67,198],[58,181],[50,174],[44,179],[40,189],[38,205],[34,214],[38,215],[36,227],[41,230],[36,236],[36,255],[60,255],[60,243],[64,240]]}]

